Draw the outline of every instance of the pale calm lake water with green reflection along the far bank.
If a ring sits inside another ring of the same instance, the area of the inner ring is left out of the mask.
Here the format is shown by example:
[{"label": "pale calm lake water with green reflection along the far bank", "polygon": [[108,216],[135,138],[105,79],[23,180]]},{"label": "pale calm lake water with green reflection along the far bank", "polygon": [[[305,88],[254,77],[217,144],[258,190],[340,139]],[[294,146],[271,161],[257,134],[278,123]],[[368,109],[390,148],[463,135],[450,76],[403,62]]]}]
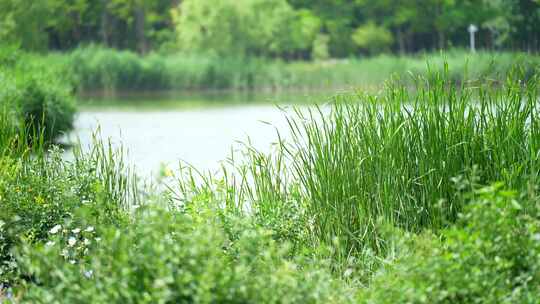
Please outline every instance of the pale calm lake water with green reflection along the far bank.
[{"label": "pale calm lake water with green reflection along the far bank", "polygon": [[[266,98],[266,99],[264,99]],[[250,139],[269,151],[276,130],[287,133],[283,109],[323,103],[324,94],[213,96],[141,95],[96,98],[82,102],[70,140],[92,144],[99,127],[101,138],[128,150],[128,160],[145,176],[155,176],[162,165],[176,168],[180,160],[200,170],[217,170],[220,161]],[[294,102],[292,102],[294,100]],[[300,101],[300,102],[298,102]],[[279,106],[277,105],[279,104]]]}]

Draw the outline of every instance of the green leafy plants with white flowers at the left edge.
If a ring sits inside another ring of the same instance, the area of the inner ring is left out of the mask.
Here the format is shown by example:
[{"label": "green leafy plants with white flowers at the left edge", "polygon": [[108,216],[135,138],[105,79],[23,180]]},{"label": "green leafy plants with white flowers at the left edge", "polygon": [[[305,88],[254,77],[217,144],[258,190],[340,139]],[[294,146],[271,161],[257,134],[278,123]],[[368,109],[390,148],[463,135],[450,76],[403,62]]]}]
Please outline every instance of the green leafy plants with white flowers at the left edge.
[{"label": "green leafy plants with white flowers at the left edge", "polygon": [[[66,163],[59,151],[50,155],[0,158],[0,282],[20,275],[12,250],[22,240],[43,243],[55,225],[85,222],[116,223],[125,216],[122,202],[110,187],[127,191],[100,174],[94,159]],[[117,173],[120,174],[120,173]]]}]

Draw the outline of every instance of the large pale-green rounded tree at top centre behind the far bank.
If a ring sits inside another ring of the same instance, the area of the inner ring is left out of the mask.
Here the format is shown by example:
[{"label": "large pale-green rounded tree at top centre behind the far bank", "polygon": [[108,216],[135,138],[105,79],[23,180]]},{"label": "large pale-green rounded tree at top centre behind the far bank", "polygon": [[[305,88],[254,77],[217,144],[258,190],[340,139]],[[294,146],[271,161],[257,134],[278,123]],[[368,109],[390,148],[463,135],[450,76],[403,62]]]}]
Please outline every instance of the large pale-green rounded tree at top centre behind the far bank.
[{"label": "large pale-green rounded tree at top centre behind the far bank", "polygon": [[180,48],[195,53],[286,56],[309,49],[320,27],[285,0],[188,0],[173,12]]}]

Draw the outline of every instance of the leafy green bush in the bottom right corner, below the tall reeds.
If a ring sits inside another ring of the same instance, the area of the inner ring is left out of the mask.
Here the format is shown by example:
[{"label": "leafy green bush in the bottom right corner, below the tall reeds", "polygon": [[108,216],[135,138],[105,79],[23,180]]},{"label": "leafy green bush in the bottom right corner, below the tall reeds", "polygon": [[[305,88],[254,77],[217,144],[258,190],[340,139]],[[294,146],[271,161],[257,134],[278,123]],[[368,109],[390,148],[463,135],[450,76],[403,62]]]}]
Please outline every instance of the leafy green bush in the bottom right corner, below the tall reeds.
[{"label": "leafy green bush in the bottom right corner, below the tall reeds", "polygon": [[361,303],[536,303],[540,205],[500,185],[475,193],[456,227],[409,241],[377,274]]}]

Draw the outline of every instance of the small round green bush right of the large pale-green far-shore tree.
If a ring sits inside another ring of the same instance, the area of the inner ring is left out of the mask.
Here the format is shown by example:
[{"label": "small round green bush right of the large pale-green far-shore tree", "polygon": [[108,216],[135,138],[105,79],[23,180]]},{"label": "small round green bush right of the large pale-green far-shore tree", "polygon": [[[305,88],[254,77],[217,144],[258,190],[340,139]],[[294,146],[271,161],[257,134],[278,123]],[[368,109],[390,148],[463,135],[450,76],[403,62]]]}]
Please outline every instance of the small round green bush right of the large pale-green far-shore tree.
[{"label": "small round green bush right of the large pale-green far-shore tree", "polygon": [[358,47],[371,55],[388,51],[394,42],[390,31],[373,22],[357,28],[352,39]]}]

